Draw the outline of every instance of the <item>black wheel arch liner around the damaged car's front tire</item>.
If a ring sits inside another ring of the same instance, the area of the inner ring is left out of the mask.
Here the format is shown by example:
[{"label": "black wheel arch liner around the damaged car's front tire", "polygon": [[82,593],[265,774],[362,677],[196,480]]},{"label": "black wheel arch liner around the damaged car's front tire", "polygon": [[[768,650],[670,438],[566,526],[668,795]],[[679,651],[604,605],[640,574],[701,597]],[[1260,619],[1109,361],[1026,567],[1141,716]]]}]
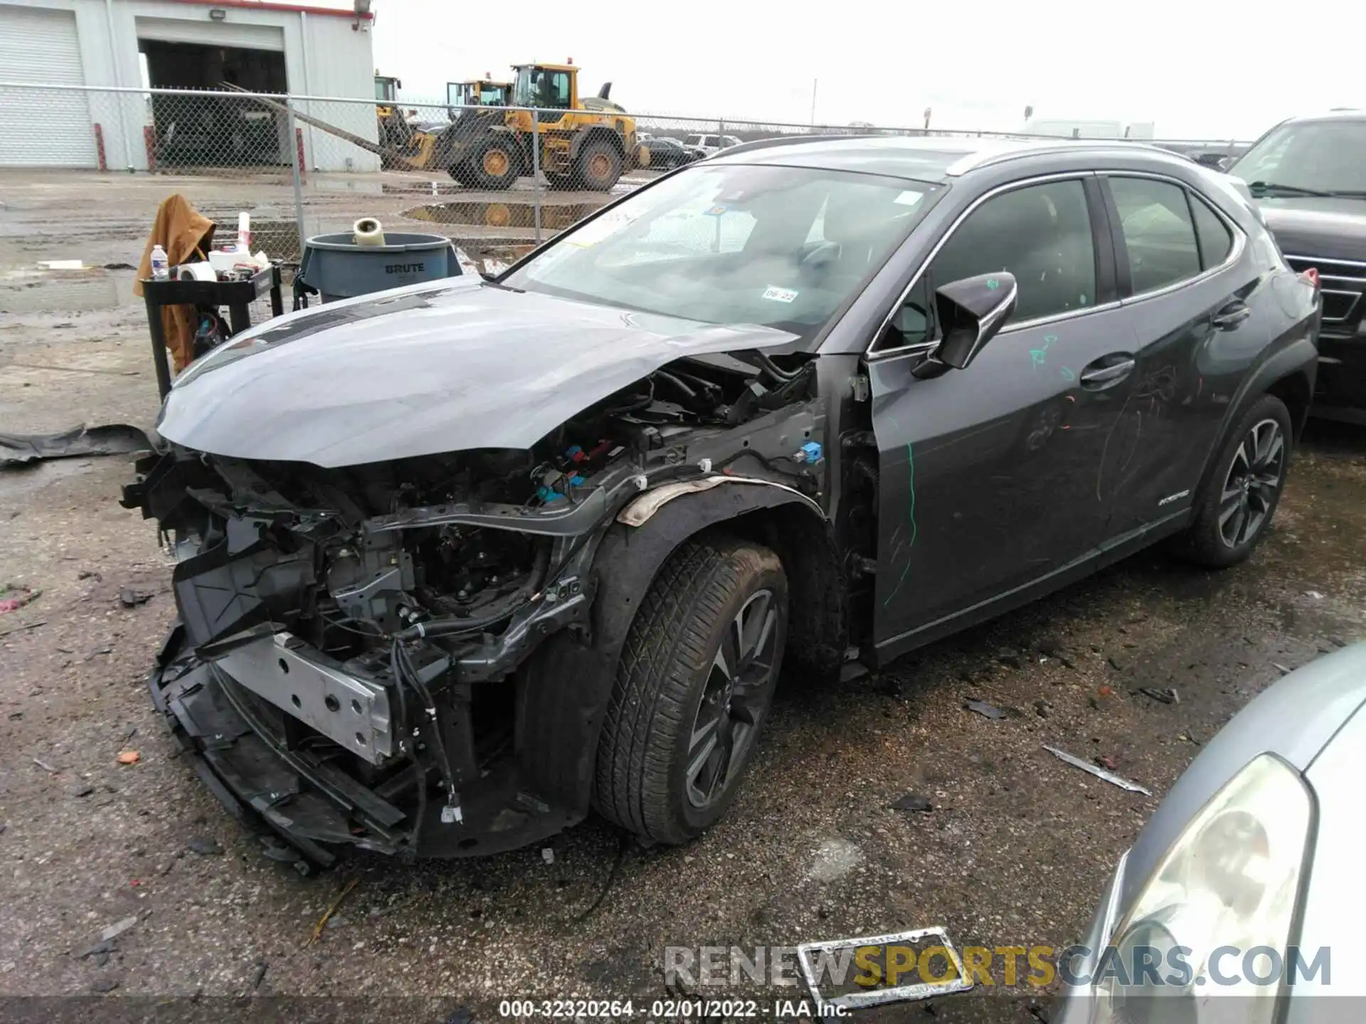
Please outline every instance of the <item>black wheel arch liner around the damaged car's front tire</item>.
[{"label": "black wheel arch liner around the damaged car's front tire", "polygon": [[680,545],[713,530],[766,545],[783,561],[791,608],[781,672],[837,677],[847,644],[844,582],[833,532],[814,502],[758,481],[673,498],[639,526],[613,522],[598,542],[591,639],[561,631],[519,672],[516,750],[534,792],[587,812],[616,665],[641,601]]}]

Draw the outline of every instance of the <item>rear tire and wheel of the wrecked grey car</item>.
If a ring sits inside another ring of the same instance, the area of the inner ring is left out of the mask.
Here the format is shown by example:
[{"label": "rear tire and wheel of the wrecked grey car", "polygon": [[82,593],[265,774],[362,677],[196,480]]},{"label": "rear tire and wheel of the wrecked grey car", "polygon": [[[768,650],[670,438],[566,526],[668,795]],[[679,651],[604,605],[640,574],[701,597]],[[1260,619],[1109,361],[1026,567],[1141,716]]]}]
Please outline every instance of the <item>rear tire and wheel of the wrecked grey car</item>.
[{"label": "rear tire and wheel of the wrecked grey car", "polygon": [[1221,569],[1253,553],[1280,504],[1294,437],[1284,401],[1262,395],[1253,403],[1218,453],[1179,554]]}]

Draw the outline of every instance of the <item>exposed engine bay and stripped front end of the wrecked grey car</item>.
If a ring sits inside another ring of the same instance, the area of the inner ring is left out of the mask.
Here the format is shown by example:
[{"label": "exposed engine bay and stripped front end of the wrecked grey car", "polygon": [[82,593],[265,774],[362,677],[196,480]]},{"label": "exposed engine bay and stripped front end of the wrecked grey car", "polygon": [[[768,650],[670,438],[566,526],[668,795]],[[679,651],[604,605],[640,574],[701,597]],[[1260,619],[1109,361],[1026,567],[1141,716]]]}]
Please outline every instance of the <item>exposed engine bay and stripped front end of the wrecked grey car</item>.
[{"label": "exposed engine bay and stripped front end of the wrecked grey car", "polygon": [[322,468],[171,445],[123,502],[178,560],[158,703],[316,863],[311,844],[454,856],[556,831],[570,815],[518,773],[516,681],[546,638],[591,640],[598,541],[663,485],[818,505],[824,422],[814,359],[747,351],[669,363],[529,451]]}]

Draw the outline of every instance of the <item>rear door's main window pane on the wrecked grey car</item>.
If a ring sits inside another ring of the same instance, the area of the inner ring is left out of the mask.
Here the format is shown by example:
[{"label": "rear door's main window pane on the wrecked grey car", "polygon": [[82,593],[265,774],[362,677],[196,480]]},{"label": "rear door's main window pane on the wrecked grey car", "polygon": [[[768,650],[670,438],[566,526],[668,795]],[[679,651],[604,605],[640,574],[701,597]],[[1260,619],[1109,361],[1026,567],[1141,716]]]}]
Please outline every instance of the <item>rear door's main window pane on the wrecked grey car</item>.
[{"label": "rear door's main window pane on the wrecked grey car", "polygon": [[1201,272],[1186,190],[1152,177],[1111,177],[1134,295]]}]

